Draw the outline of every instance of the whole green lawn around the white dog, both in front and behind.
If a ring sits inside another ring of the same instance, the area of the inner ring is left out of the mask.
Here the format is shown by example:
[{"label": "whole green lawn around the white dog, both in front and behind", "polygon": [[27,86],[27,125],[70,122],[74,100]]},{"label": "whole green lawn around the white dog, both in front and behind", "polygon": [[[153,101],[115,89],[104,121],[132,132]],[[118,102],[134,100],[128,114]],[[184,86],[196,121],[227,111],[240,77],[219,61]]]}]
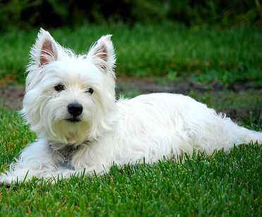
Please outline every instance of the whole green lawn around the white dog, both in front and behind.
[{"label": "whole green lawn around the white dog, both in front and behind", "polygon": [[[113,33],[117,76],[124,81],[174,83],[245,127],[262,130],[262,31],[186,28],[181,25],[84,25],[50,30],[56,40],[85,52]],[[23,85],[37,30],[0,36],[0,88]],[[137,80],[136,80],[137,79]],[[218,88],[217,86],[221,86]],[[125,89],[126,88],[126,89]],[[0,92],[1,93],[1,92]],[[120,83],[118,93],[144,93]],[[36,138],[15,110],[1,105],[0,172]],[[32,180],[0,187],[0,216],[261,216],[262,147],[256,143],[184,162],[114,167],[102,177],[72,177],[55,184]]]}]

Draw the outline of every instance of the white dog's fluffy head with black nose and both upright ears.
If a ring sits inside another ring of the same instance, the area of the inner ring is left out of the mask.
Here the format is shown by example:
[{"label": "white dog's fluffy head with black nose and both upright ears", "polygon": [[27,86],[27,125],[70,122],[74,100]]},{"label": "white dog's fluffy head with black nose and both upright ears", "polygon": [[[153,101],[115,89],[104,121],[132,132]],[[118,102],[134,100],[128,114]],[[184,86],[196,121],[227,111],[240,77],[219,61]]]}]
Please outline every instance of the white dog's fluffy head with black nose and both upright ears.
[{"label": "white dog's fluffy head with black nose and both upright ears", "polygon": [[76,55],[40,30],[30,51],[22,114],[50,141],[82,143],[110,128],[115,108],[115,54],[105,35]]}]

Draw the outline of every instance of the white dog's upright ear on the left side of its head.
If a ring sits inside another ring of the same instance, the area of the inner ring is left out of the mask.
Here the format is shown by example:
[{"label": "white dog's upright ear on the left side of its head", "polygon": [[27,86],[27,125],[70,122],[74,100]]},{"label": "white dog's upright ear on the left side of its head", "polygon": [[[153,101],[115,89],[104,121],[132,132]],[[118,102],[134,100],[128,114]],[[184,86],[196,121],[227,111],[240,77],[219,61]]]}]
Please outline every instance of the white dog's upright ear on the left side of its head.
[{"label": "white dog's upright ear on the left side of its head", "polygon": [[40,29],[35,45],[30,50],[32,64],[44,66],[57,59],[58,44],[49,32]]}]

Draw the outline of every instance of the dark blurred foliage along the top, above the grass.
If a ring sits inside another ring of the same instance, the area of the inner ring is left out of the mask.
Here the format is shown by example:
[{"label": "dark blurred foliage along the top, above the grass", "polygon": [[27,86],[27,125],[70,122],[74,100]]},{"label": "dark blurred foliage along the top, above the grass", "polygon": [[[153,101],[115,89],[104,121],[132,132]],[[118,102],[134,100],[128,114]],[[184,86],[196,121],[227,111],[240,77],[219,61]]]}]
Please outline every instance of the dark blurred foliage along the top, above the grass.
[{"label": "dark blurred foliage along the top, above the grass", "polygon": [[189,26],[261,25],[262,4],[260,0],[0,0],[0,30],[164,20]]}]

